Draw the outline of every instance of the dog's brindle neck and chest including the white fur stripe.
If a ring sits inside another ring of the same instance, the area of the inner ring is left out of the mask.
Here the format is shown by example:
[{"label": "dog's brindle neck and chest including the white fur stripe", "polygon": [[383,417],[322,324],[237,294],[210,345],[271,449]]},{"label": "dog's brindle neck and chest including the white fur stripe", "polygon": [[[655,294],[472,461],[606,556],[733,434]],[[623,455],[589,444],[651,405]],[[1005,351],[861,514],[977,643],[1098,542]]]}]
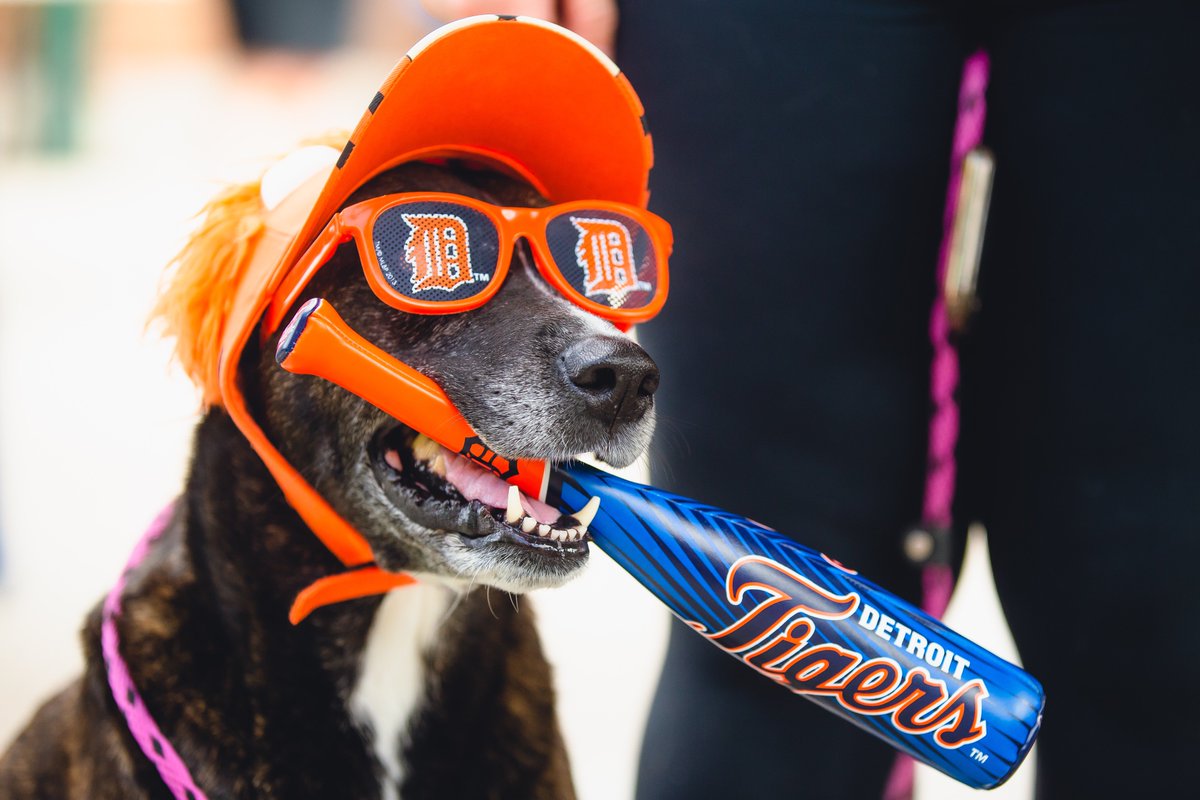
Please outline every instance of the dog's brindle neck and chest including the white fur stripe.
[{"label": "dog's brindle neck and chest including the white fur stripe", "polygon": [[[210,796],[392,798],[400,784],[469,796],[498,782],[512,796],[570,795],[528,612],[484,591],[451,602],[422,583],[292,626],[295,593],[340,569],[229,419],[210,413],[185,500],[130,576],[120,620],[148,709]],[[491,738],[502,732],[510,739]],[[487,766],[462,769],[472,756]]]}]

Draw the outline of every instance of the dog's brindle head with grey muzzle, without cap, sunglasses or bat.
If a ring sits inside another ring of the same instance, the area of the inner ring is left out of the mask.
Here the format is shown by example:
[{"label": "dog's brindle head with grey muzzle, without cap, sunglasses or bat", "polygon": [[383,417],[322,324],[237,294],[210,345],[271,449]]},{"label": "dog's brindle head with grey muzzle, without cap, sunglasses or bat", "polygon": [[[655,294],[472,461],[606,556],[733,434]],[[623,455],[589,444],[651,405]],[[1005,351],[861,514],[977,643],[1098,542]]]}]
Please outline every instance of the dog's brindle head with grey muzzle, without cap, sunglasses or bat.
[{"label": "dog's brindle head with grey muzzle, without cap, sunglasses or bat", "polygon": [[[546,205],[515,179],[425,163],[371,180],[348,203],[414,191]],[[482,307],[410,314],[376,296],[348,243],[302,299],[330,301],[367,341],[433,378],[502,456],[595,453],[629,464],[654,426],[654,362],[551,288],[523,242],[512,259]],[[258,415],[284,457],[367,539],[380,566],[524,591],[557,585],[586,563],[587,537],[572,516],[524,495],[510,511],[500,479],[332,384],[282,371],[274,344],[253,365]]]}]

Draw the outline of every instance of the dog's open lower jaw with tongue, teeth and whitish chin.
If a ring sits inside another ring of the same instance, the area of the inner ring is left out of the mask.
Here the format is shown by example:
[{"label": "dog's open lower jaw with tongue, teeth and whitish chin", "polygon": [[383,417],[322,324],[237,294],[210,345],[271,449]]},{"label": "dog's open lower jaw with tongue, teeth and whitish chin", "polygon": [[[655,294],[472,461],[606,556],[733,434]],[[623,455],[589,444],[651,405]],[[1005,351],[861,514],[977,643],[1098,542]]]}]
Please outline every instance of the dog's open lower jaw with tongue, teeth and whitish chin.
[{"label": "dog's open lower jaw with tongue, teeth and whitish chin", "polygon": [[422,540],[425,563],[413,565],[421,573],[524,593],[559,587],[587,564],[592,537],[577,517],[512,492],[412,428],[380,431],[367,458],[389,516],[403,523],[397,536]]}]

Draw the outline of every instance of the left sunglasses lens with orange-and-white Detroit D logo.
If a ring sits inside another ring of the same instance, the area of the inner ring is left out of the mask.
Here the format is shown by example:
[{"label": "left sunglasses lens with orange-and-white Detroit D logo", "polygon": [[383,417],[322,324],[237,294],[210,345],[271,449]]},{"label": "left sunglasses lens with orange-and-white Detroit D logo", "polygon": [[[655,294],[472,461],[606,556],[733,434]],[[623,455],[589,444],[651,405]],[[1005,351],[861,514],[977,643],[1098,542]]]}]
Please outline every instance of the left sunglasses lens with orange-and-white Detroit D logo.
[{"label": "left sunglasses lens with orange-and-white Detroit D logo", "polygon": [[414,300],[468,300],[496,276],[496,225],[464,205],[421,201],[392,206],[376,218],[371,240],[384,278]]}]

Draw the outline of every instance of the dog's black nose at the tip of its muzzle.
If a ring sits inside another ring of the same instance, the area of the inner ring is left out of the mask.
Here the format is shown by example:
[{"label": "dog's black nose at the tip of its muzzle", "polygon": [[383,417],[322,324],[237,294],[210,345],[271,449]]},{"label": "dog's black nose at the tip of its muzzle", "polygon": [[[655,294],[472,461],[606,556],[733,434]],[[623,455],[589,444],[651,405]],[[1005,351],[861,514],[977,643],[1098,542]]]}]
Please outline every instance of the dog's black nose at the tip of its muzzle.
[{"label": "dog's black nose at the tip of its muzzle", "polygon": [[626,338],[580,339],[559,354],[558,366],[583,397],[588,411],[610,429],[641,420],[654,404],[659,367]]}]

